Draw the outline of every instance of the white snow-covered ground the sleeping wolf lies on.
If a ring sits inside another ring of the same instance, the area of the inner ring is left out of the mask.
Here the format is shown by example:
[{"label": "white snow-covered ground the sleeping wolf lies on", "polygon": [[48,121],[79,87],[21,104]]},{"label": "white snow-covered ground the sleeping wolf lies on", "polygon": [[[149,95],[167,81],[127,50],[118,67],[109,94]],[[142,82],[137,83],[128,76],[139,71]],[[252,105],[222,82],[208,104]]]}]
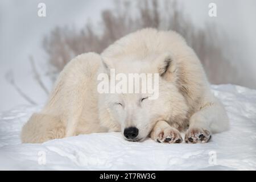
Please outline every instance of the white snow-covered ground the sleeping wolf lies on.
[{"label": "white snow-covered ground the sleeping wolf lies on", "polygon": [[256,90],[213,85],[230,130],[204,144],[127,142],[121,133],[98,133],[21,144],[20,130],[38,107],[0,113],[0,169],[35,170],[255,170]]}]

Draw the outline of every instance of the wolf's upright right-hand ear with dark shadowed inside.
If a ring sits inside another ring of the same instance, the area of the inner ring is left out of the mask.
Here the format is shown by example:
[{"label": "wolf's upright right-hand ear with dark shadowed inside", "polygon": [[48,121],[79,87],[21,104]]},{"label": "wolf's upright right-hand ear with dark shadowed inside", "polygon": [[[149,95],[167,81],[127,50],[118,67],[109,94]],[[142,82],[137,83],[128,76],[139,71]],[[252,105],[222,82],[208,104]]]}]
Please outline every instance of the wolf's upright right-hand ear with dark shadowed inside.
[{"label": "wolf's upright right-hand ear with dark shadowed inside", "polygon": [[174,76],[177,68],[171,53],[164,53],[157,58],[158,73],[160,77],[170,79]]}]

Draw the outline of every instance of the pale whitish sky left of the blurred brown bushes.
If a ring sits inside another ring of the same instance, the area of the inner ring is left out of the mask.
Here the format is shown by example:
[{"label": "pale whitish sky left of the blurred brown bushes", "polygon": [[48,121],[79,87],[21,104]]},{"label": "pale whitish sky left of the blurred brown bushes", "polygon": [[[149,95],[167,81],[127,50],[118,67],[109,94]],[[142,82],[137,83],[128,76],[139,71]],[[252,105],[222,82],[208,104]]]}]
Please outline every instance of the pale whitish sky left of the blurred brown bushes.
[{"label": "pale whitish sky left of the blurred brown bushes", "polygon": [[[46,3],[47,16],[39,18],[38,3]],[[74,3],[75,2],[75,3]],[[112,1],[0,1],[0,111],[16,105],[28,104],[5,80],[5,73],[12,69],[19,87],[38,104],[47,97],[32,78],[29,55],[36,59],[37,68],[46,72],[46,55],[41,43],[56,26],[73,25],[81,28],[90,18],[98,22],[101,9]],[[47,83],[48,81],[46,81]],[[48,82],[49,83],[49,82]],[[48,85],[49,89],[51,85]]]}]

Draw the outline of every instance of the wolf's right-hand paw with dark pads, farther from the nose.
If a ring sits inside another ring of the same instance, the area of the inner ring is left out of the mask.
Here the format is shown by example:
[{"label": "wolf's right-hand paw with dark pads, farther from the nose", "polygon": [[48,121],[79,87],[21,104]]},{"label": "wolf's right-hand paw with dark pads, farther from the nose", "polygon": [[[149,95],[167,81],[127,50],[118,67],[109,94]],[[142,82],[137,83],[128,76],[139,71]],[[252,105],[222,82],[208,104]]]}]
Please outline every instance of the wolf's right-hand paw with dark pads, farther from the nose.
[{"label": "wolf's right-hand paw with dark pads, farther from the nose", "polygon": [[206,143],[209,141],[210,137],[210,131],[208,130],[201,128],[188,129],[187,133],[185,134],[185,142]]}]

